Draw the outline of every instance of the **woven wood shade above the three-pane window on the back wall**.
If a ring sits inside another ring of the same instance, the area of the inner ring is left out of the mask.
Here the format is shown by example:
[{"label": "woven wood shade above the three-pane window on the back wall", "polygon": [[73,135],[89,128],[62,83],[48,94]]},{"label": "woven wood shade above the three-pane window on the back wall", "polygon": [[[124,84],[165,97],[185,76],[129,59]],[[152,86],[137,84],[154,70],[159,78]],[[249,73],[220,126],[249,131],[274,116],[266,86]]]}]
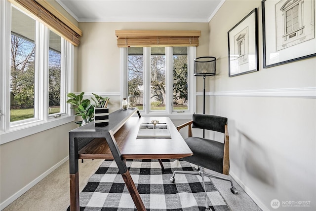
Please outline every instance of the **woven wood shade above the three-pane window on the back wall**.
[{"label": "woven wood shade above the three-pane window on the back wall", "polygon": [[198,46],[201,31],[116,30],[118,47]]}]

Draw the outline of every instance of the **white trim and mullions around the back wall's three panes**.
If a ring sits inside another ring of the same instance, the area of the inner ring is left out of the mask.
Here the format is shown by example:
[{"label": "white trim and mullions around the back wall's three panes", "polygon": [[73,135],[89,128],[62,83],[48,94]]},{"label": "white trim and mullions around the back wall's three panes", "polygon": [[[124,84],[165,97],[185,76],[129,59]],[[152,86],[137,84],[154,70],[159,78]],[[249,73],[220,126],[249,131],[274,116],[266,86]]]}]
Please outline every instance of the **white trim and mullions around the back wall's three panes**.
[{"label": "white trim and mullions around the back wall's three panes", "polygon": [[[146,54],[150,54],[150,48],[149,47],[144,47],[143,48],[143,52],[144,55]],[[172,97],[172,92],[173,89],[171,89],[171,85],[173,84],[173,80],[172,77],[170,77],[170,73],[168,74],[167,71],[168,70],[172,70],[172,63],[168,62],[167,60],[167,55],[172,54],[172,47],[171,48],[167,48],[166,50],[166,92],[167,95]],[[150,106],[144,106],[144,110],[140,111],[141,116],[167,116],[172,120],[183,120],[183,119],[192,119],[192,114],[196,112],[196,77],[193,76],[193,70],[194,70],[194,59],[196,58],[196,47],[188,47],[188,57],[190,58],[188,60],[188,75],[190,75],[190,77],[188,77],[188,102],[189,102],[189,107],[188,110],[185,111],[184,113],[178,113],[177,111],[172,111],[172,99],[167,99],[166,101],[166,111],[150,111]],[[127,70],[128,70],[128,64],[127,64],[127,58],[128,58],[128,51],[127,48],[120,48],[120,98],[121,100],[123,100],[123,98],[127,97]],[[146,59],[146,57],[144,56],[144,64],[143,66],[150,68],[150,57]],[[170,66],[170,67],[169,67]],[[145,70],[145,69],[144,69]],[[144,86],[145,87],[149,87],[148,81],[150,81],[148,79],[148,77],[150,77],[150,75],[144,71],[143,73],[143,77],[144,77]],[[146,86],[147,85],[147,86]],[[150,88],[148,88],[150,89]],[[171,93],[171,94],[170,94]],[[146,95],[146,98],[150,98],[150,90],[146,90],[145,93],[143,93],[144,95]],[[146,102],[144,102],[145,104]]]}]

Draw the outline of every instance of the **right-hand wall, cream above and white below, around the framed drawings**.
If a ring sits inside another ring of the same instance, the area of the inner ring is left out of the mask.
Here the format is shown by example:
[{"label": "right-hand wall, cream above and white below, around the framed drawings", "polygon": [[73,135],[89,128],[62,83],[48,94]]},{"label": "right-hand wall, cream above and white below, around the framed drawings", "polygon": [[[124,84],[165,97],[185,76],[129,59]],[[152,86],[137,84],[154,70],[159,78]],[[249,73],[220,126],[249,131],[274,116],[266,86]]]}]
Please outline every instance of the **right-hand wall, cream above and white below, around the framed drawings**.
[{"label": "right-hand wall, cream above and white below, around the framed drawings", "polygon": [[[255,7],[259,23],[259,71],[228,77],[227,32]],[[261,0],[226,0],[210,21],[210,78],[215,114],[227,116],[230,174],[263,210],[277,199],[311,201],[316,210],[316,58],[263,69]]]}]

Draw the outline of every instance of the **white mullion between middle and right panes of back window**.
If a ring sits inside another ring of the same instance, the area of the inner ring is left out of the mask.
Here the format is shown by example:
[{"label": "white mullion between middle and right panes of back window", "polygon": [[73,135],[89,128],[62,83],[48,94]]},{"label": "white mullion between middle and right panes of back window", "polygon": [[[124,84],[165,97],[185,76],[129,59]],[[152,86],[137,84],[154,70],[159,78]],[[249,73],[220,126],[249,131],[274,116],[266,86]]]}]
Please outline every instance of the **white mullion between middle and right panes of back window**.
[{"label": "white mullion between middle and right panes of back window", "polygon": [[165,48],[166,56],[166,112],[172,113],[173,103],[173,47]]}]

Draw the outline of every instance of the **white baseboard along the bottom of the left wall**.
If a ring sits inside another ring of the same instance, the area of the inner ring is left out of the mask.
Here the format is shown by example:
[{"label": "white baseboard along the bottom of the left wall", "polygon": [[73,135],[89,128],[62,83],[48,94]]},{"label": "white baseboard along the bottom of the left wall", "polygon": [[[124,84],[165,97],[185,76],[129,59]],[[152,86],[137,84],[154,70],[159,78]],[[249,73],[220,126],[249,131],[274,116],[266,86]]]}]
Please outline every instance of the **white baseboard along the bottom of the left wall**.
[{"label": "white baseboard along the bottom of the left wall", "polygon": [[21,190],[10,196],[8,199],[6,199],[4,202],[0,204],[0,209],[3,210],[6,208],[8,205],[10,205],[14,200],[22,196],[26,191],[30,190],[34,185],[40,182],[45,176],[49,175],[52,173],[55,169],[57,169],[59,166],[61,166],[63,163],[65,163],[67,160],[69,160],[69,156],[65,157],[62,159],[60,162],[58,162],[56,165],[48,169],[46,172],[41,174],[39,177],[31,181],[29,184],[24,186]]}]

